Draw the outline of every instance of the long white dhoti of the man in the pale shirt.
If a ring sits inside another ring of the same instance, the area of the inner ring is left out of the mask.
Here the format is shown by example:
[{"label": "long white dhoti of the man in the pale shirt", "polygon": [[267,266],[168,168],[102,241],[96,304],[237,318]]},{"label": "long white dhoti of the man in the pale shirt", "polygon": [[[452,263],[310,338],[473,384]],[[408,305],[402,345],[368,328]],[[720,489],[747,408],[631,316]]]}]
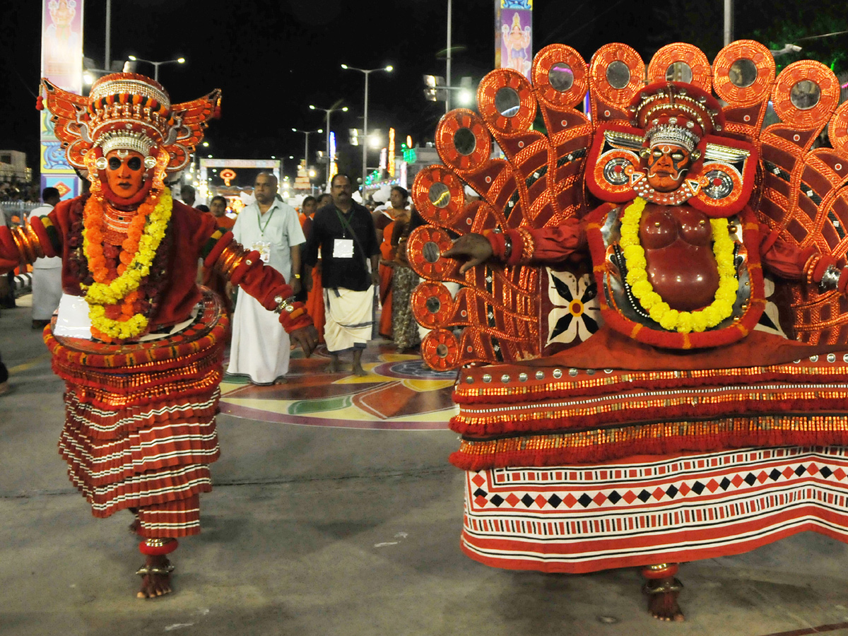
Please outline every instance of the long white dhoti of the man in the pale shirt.
[{"label": "long white dhoti of the man in the pale shirt", "polygon": [[288,373],[289,354],[290,340],[279,316],[239,289],[226,372],[248,376],[254,384],[272,384]]}]

